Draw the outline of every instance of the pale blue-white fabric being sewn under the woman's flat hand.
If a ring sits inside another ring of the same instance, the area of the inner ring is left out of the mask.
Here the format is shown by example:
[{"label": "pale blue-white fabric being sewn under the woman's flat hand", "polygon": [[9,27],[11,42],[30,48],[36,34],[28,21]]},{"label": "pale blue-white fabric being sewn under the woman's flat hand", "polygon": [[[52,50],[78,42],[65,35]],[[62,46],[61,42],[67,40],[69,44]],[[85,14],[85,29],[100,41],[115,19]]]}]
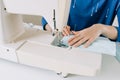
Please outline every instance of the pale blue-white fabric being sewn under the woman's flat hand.
[{"label": "pale blue-white fabric being sewn under the woman's flat hand", "polygon": [[[73,37],[73,35],[63,37],[61,42],[64,45],[68,45],[68,40]],[[78,48],[86,51],[92,51],[102,54],[108,54],[112,56],[116,56],[116,44],[115,42],[110,41],[107,38],[99,37],[97,40],[95,40],[88,48],[84,48],[83,45],[79,46]]]}]

